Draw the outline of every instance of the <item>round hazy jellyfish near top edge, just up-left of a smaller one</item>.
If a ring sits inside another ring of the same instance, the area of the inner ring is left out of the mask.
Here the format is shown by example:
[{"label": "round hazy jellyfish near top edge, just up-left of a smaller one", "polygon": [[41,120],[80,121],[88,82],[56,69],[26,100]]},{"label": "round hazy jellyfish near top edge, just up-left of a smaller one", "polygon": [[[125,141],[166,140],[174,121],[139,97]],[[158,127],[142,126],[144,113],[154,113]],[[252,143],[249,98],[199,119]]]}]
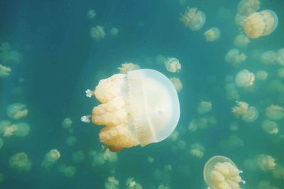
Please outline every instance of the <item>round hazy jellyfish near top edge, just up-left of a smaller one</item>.
[{"label": "round hazy jellyfish near top edge, just up-left of a smaller one", "polygon": [[198,11],[197,8],[187,8],[185,13],[180,18],[185,28],[189,28],[192,31],[200,30],[205,23],[205,14],[202,11]]}]

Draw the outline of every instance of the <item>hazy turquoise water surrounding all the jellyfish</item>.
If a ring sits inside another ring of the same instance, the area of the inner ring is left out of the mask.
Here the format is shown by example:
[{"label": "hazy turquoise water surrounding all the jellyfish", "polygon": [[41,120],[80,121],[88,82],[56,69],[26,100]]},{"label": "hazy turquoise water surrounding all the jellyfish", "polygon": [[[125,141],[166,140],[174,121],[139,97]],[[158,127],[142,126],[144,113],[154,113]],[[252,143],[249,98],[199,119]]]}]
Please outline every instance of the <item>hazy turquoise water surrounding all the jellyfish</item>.
[{"label": "hazy turquoise water surrounding all the jellyfish", "polygon": [[[11,68],[8,77],[0,78],[0,120],[10,120],[12,124],[26,122],[31,127],[26,137],[0,136],[4,139],[0,149],[4,181],[0,179],[0,188],[105,188],[112,176],[119,181],[119,188],[127,188],[126,179],[130,177],[143,188],[158,188],[162,184],[168,188],[207,188],[202,172],[206,161],[215,155],[229,157],[244,171],[241,178],[246,184],[241,188],[258,189],[263,180],[284,188],[284,171],[278,178],[273,172],[275,168],[262,171],[245,164],[247,159],[254,162],[258,154],[267,154],[275,159],[276,168],[284,166],[283,119],[275,120],[278,134],[268,134],[261,127],[269,105],[284,106],[283,79],[277,74],[281,66],[262,64],[255,56],[256,52],[277,52],[284,47],[284,1],[261,1],[259,11],[275,11],[278,28],[240,48],[247,58],[236,68],[226,63],[224,57],[234,48],[236,35],[244,33],[234,23],[239,1],[187,1],[180,5],[173,0],[2,0],[0,4],[0,43],[9,42],[11,49],[21,55],[18,61],[0,62]],[[206,22],[200,30],[191,31],[180,22],[187,6],[205,13]],[[97,15],[89,18],[89,10]],[[106,35],[102,40],[94,40],[90,35],[96,25],[104,27]],[[115,36],[109,33],[112,27],[119,29]],[[204,32],[212,27],[218,27],[221,36],[207,42]],[[155,61],[158,55],[178,58],[182,69],[170,73]],[[178,138],[124,149],[116,153],[114,162],[94,166],[90,151],[104,153],[99,142],[102,126],[86,124],[80,118],[92,113],[99,101],[87,98],[84,91],[94,89],[100,79],[119,73],[117,67],[124,62],[180,79]],[[234,76],[241,69],[255,74],[265,70],[268,78],[256,79],[249,89],[236,87],[239,98],[228,98],[226,78],[230,75],[234,83]],[[255,106],[258,118],[253,122],[236,119],[231,113],[236,100]],[[212,103],[209,113],[197,113],[201,101]],[[6,109],[13,103],[25,104],[28,115],[21,120],[9,118]],[[188,129],[192,120],[208,117],[216,124],[194,132]],[[62,127],[65,118],[72,120],[71,130]],[[238,130],[231,130],[232,122],[239,125]],[[66,142],[70,136],[77,139],[71,146]],[[202,158],[190,154],[190,145],[195,142],[204,146]],[[46,170],[41,164],[51,149],[60,151],[60,159]],[[11,156],[22,151],[32,163],[27,171],[9,165]],[[84,154],[79,163],[72,160],[75,151]],[[149,157],[153,157],[153,163],[148,161]],[[60,171],[62,165],[75,168],[75,174],[66,176]]]}]

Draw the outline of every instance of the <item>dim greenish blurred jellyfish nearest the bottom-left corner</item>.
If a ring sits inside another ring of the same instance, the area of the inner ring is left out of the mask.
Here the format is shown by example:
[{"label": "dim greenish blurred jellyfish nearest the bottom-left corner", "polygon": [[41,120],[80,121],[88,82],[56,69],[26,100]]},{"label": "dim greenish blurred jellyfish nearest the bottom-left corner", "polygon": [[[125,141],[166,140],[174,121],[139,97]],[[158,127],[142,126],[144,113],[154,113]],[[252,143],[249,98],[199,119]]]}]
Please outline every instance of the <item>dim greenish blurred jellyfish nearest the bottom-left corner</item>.
[{"label": "dim greenish blurred jellyfish nearest the bottom-left corner", "polygon": [[9,158],[9,166],[17,171],[30,171],[32,163],[25,152],[19,152]]}]

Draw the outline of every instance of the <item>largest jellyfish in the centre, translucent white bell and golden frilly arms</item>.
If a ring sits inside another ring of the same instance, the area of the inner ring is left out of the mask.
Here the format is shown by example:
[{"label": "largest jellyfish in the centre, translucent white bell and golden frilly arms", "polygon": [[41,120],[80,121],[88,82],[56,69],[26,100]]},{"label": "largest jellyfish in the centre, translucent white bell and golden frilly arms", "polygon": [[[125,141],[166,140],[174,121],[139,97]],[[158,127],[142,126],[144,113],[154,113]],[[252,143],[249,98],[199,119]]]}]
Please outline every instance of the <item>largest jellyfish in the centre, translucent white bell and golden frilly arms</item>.
[{"label": "largest jellyfish in the centre, translucent white bell and golden frilly arms", "polygon": [[180,118],[175,86],[153,69],[114,74],[99,81],[95,91],[86,92],[102,102],[94,107],[92,122],[107,125],[99,138],[111,151],[160,142],[175,130]]}]

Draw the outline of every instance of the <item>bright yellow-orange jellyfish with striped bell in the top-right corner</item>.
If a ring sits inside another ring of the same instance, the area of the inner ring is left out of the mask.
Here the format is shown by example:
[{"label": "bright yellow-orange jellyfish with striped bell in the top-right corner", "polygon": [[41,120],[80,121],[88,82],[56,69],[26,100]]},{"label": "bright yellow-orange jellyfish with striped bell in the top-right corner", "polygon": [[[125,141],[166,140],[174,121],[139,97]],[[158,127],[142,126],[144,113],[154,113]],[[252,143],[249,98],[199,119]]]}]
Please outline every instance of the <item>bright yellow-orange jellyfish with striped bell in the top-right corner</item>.
[{"label": "bright yellow-orange jellyfish with striped bell in the top-right corner", "polygon": [[278,17],[271,10],[252,13],[245,18],[243,29],[248,38],[259,38],[264,35],[269,35],[275,30],[278,25]]}]

